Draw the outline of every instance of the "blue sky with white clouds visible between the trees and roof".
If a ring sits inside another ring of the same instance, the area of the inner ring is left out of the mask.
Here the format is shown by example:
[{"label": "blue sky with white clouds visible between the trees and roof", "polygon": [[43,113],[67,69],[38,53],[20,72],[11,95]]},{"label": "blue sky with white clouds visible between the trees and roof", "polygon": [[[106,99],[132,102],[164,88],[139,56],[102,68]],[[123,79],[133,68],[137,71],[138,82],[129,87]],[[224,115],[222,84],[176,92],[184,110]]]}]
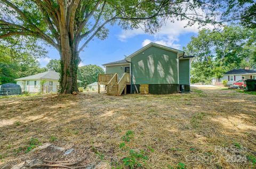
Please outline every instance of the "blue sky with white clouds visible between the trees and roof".
[{"label": "blue sky with white clouds visible between the trees and roof", "polygon": [[[157,34],[145,34],[142,29],[122,30],[118,26],[108,26],[109,36],[105,40],[94,38],[93,41],[80,53],[82,63],[79,66],[103,63],[124,59],[124,55],[130,55],[150,42],[181,49],[190,41],[191,36],[198,33],[198,27],[186,27],[186,21],[167,22]],[[53,47],[46,47],[46,58],[38,61],[41,67],[45,67],[50,59],[60,59],[59,53]]]}]

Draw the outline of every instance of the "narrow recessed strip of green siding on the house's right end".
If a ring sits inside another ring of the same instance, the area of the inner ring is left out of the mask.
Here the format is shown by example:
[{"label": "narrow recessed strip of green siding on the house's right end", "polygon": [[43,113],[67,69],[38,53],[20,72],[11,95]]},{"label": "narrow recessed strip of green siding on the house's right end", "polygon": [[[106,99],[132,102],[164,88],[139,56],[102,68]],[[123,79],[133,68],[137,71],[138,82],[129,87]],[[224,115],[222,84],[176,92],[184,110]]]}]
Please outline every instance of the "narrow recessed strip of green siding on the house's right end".
[{"label": "narrow recessed strip of green siding on the house's right end", "polygon": [[181,59],[179,63],[180,84],[189,85],[189,59]]}]

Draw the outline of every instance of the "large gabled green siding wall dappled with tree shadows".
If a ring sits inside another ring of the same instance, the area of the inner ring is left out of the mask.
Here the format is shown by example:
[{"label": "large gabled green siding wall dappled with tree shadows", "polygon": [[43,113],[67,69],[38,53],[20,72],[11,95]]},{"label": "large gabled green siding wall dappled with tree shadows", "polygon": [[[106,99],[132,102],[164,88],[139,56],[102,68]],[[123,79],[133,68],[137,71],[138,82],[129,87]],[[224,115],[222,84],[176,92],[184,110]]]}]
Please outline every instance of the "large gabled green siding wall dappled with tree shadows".
[{"label": "large gabled green siding wall dappled with tree shadows", "polygon": [[150,46],[131,58],[132,84],[178,84],[176,52]]}]

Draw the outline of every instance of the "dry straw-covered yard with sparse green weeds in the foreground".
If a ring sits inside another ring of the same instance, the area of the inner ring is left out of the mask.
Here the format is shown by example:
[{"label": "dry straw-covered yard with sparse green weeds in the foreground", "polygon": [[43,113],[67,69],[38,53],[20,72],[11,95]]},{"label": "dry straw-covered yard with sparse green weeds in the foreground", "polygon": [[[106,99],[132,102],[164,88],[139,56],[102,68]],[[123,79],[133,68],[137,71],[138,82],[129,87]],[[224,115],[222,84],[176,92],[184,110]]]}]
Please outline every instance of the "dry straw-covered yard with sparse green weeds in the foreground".
[{"label": "dry straw-covered yard with sparse green weeds in the foreground", "polygon": [[[215,87],[0,98],[0,168],[35,158],[112,168],[256,168],[255,115],[255,95]],[[74,152],[31,152],[47,142]]]}]

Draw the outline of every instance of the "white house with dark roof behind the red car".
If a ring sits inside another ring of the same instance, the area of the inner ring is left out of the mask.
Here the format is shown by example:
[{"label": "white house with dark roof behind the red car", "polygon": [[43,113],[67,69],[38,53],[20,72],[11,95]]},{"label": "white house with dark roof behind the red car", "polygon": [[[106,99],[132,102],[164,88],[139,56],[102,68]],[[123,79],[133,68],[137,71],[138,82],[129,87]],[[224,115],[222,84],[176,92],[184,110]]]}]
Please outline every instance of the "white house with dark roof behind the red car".
[{"label": "white house with dark roof behind the red car", "polygon": [[222,85],[222,81],[227,80],[227,85],[233,85],[233,83],[239,80],[256,79],[256,70],[246,69],[232,69],[223,74],[222,78],[212,78],[212,85]]}]

